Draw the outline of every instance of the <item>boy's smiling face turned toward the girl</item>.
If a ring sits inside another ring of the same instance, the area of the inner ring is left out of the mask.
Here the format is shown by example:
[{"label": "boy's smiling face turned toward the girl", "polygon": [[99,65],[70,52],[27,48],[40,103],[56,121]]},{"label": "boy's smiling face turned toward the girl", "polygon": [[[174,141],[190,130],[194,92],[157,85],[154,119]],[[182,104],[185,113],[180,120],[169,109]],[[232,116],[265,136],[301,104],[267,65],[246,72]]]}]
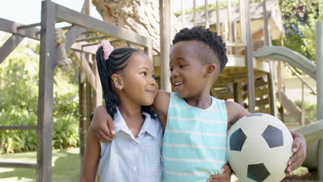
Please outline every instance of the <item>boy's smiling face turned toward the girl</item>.
[{"label": "boy's smiling face turned toward the girl", "polygon": [[170,50],[170,83],[180,97],[198,96],[206,87],[199,45],[199,41],[179,41]]}]

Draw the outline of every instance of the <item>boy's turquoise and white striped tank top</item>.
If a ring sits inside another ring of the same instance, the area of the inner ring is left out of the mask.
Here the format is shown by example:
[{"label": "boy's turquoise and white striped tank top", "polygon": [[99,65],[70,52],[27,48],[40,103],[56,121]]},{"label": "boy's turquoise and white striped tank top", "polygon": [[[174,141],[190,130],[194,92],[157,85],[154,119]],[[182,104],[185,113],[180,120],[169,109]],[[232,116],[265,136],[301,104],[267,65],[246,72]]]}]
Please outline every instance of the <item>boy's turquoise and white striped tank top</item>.
[{"label": "boy's turquoise and white striped tank top", "polygon": [[170,93],[163,137],[163,181],[203,181],[226,164],[226,105],[212,97],[206,110]]}]

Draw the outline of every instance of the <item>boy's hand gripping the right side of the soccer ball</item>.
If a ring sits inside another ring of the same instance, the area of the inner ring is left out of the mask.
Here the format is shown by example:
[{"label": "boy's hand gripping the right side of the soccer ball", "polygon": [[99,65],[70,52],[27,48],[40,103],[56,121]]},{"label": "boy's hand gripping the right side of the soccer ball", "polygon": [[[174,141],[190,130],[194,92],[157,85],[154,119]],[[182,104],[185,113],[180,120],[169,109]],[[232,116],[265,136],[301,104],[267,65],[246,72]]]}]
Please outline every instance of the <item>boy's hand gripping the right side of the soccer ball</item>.
[{"label": "boy's hand gripping the right side of the soccer ball", "polygon": [[288,160],[288,166],[286,168],[286,172],[291,174],[293,170],[296,170],[306,158],[306,141],[302,134],[298,134],[296,132],[291,132],[294,142],[293,142],[293,156]]}]

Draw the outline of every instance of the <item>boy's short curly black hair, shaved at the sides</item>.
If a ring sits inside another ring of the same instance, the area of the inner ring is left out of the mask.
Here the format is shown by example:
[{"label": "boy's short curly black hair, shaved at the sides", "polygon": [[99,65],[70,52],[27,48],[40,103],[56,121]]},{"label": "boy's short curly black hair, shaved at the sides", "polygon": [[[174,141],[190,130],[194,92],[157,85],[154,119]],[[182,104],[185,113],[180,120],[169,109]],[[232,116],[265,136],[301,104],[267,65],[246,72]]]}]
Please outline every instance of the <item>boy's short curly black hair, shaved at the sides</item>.
[{"label": "boy's short curly black hair, shaved at the sides", "polygon": [[[222,37],[217,35],[217,32],[211,31],[209,28],[205,29],[202,26],[195,26],[191,29],[183,28],[173,39],[173,45],[179,41],[202,41],[210,51],[209,54],[215,54],[219,62],[219,72],[222,72],[226,63],[228,62],[228,57],[226,56],[226,43],[224,43]],[[200,50],[199,50],[200,51]],[[205,51],[205,50],[203,50]],[[213,59],[214,60],[214,59]]]}]

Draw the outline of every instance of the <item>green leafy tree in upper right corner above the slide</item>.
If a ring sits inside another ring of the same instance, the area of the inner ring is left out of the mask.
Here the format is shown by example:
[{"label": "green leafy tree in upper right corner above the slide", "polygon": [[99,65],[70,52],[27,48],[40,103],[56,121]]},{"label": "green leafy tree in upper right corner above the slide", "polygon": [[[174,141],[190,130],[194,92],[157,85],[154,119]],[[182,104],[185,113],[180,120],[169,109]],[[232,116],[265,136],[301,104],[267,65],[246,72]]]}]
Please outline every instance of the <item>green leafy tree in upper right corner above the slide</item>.
[{"label": "green leafy tree in upper right corner above the slide", "polygon": [[[322,0],[280,0],[284,46],[315,61],[315,22],[323,20]],[[320,14],[321,11],[321,14]]]}]

